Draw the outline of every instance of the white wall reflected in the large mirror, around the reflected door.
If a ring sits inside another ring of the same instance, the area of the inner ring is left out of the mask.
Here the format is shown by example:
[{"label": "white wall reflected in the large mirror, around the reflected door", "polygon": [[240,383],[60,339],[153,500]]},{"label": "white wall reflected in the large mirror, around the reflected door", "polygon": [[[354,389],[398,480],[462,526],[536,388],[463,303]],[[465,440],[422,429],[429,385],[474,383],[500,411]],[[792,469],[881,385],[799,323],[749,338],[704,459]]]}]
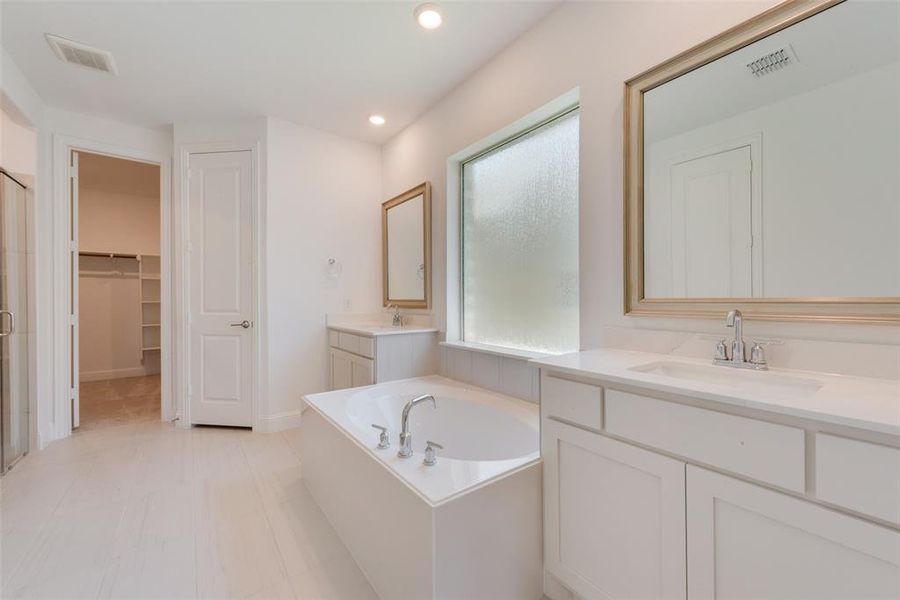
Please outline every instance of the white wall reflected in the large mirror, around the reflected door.
[{"label": "white wall reflected in the large mirror, around the reflected door", "polygon": [[647,295],[673,296],[671,164],[761,134],[761,295],[900,296],[898,97],[893,63],[652,143]]}]

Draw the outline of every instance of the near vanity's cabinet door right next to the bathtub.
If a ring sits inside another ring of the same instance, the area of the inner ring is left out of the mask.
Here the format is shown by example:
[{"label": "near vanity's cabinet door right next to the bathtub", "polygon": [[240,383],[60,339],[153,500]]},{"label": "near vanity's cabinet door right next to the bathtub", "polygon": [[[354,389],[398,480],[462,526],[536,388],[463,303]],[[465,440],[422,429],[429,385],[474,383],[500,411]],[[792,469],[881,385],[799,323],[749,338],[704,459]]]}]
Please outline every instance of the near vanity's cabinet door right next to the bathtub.
[{"label": "near vanity's cabinet door right next to the bathtub", "polygon": [[685,597],[684,463],[544,419],[544,559],[587,599]]}]

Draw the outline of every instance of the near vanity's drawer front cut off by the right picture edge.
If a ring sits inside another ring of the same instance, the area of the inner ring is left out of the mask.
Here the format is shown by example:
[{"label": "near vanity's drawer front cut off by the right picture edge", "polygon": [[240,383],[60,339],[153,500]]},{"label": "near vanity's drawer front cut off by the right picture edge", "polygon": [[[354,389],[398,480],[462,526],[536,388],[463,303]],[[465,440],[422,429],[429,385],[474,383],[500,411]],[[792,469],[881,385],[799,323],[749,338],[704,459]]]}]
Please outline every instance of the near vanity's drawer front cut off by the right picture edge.
[{"label": "near vanity's drawer front cut off by the right picture edge", "polygon": [[816,496],[900,524],[900,448],[817,433]]}]

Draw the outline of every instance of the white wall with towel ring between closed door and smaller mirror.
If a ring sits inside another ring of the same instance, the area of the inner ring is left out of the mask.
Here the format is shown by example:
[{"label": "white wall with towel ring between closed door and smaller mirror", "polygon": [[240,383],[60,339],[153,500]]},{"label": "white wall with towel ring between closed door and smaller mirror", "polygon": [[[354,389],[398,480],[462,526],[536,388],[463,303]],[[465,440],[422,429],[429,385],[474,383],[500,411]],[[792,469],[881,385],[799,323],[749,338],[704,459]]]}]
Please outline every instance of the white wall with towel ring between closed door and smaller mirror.
[{"label": "white wall with towel ring between closed door and smaller mirror", "polygon": [[[381,189],[377,146],[269,120],[267,414],[277,427],[299,417],[302,394],[328,389],[325,314],[381,308]],[[337,279],[329,258],[343,266]]]}]

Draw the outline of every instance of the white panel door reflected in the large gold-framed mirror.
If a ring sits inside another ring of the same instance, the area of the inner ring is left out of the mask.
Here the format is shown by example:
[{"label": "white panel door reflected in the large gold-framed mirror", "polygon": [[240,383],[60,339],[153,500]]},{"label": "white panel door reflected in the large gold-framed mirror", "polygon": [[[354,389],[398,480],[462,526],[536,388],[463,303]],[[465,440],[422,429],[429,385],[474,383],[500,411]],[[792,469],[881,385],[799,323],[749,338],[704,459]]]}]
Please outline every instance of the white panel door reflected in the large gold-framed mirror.
[{"label": "white panel door reflected in the large gold-framed mirror", "polygon": [[672,166],[672,286],[677,298],[752,290],[750,146]]}]

